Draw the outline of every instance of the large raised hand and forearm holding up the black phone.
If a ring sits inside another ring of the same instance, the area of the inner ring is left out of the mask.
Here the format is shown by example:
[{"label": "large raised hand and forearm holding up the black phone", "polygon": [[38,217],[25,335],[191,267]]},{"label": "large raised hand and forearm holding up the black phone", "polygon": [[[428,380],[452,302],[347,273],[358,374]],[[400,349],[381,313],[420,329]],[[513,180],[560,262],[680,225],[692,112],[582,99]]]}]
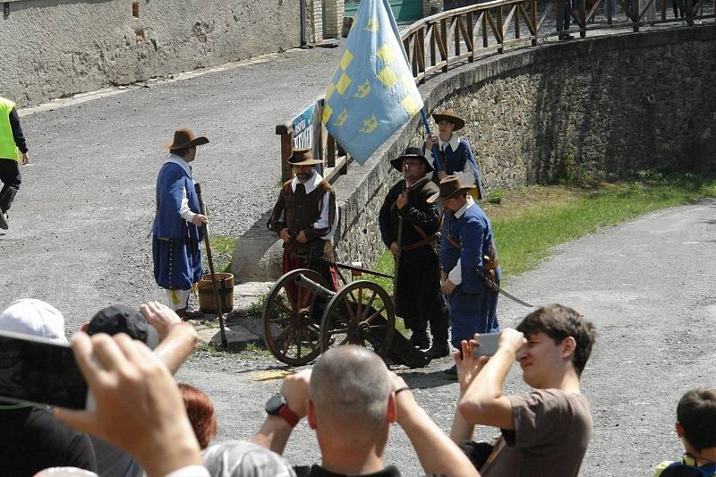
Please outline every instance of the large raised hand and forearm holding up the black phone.
[{"label": "large raised hand and forearm holding up the black phone", "polygon": [[149,477],[209,477],[179,388],[155,353],[124,333],[77,333],[72,350],[95,407],[56,409],[57,417],[122,448]]}]

